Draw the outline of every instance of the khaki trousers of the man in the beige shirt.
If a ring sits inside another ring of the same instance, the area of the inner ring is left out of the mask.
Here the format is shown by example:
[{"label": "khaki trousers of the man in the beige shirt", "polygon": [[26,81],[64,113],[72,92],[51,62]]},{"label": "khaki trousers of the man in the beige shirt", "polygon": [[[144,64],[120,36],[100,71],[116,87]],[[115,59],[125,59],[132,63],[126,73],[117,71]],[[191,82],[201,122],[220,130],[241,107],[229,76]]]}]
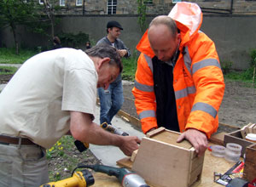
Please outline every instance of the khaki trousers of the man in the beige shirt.
[{"label": "khaki trousers of the man in the beige shirt", "polygon": [[0,186],[38,187],[49,182],[46,150],[37,144],[0,144]]}]

